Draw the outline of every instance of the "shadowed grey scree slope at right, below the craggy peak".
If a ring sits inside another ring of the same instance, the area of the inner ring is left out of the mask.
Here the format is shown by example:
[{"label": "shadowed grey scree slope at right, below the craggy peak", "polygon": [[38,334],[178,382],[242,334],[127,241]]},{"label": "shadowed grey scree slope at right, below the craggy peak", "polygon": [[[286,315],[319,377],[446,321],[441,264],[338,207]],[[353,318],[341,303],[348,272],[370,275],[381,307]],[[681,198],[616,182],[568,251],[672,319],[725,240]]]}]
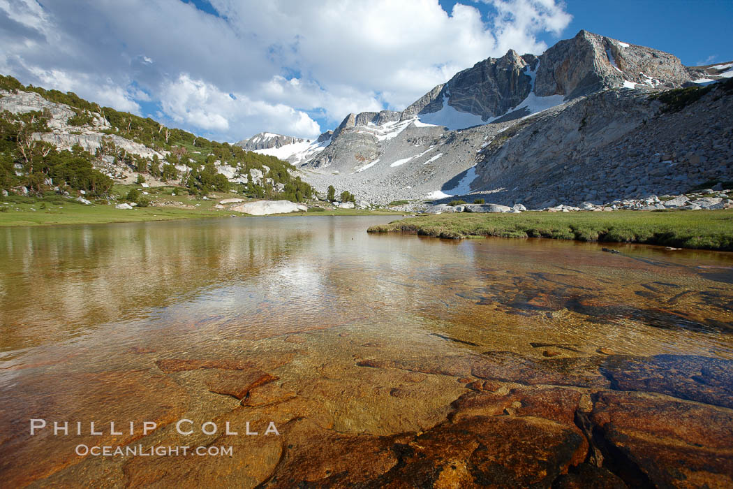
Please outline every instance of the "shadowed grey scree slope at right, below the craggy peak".
[{"label": "shadowed grey scree slope at right, below the craggy peak", "polygon": [[490,202],[549,207],[733,180],[732,109],[733,81],[658,95],[599,92],[494,139],[479,152],[471,190]]}]

